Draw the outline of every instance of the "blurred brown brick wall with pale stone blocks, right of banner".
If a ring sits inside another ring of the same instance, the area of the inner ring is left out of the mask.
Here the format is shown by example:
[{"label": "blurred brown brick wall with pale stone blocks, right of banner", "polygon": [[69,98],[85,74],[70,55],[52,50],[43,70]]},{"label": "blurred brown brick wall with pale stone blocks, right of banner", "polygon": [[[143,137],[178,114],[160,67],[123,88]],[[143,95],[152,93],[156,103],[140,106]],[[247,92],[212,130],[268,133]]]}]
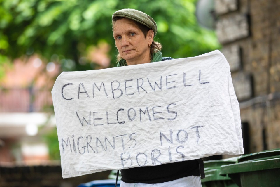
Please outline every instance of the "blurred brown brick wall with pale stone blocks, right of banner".
[{"label": "blurred brown brick wall with pale stone blocks, right of banner", "polygon": [[[245,153],[280,147],[280,1],[214,0],[240,104]],[[248,144],[248,145],[246,145]]]}]

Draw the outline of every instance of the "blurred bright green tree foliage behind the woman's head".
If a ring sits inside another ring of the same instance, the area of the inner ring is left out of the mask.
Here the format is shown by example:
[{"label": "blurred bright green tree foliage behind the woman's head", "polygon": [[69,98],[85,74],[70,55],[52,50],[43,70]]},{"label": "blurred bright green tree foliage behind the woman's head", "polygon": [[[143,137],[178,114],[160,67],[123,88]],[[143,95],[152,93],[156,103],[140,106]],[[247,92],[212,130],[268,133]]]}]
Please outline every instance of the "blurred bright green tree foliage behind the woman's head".
[{"label": "blurred bright green tree foliage behind the woman's head", "polygon": [[195,0],[0,0],[0,5],[1,61],[37,53],[60,62],[62,70],[88,70],[89,63],[81,63],[87,50],[106,42],[114,67],[111,16],[122,8],[155,19],[164,56],[196,56],[219,47],[214,32],[197,25]]}]

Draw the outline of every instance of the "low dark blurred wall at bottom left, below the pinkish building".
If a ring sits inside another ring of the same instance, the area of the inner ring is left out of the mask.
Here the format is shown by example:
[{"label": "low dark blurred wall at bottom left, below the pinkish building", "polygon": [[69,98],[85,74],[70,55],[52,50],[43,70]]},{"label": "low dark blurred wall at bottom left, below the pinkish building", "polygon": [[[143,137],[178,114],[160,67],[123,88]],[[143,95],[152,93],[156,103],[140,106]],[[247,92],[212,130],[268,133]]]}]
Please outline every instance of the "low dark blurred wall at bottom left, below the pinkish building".
[{"label": "low dark blurred wall at bottom left, below the pinkish building", "polygon": [[108,179],[111,171],[63,179],[61,165],[0,165],[1,187],[75,187],[93,180]]}]

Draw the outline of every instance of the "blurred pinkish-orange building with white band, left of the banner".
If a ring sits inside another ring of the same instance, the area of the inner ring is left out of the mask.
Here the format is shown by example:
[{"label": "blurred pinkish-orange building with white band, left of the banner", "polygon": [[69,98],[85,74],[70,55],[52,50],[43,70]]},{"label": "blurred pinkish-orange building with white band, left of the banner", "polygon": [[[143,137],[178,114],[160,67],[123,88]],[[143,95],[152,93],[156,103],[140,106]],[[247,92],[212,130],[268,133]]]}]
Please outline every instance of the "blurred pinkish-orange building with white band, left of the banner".
[{"label": "blurred pinkish-orange building with white band, left of the banner", "polygon": [[6,67],[0,83],[0,162],[38,164],[49,160],[41,135],[55,127],[48,108],[58,69],[55,63],[44,65],[37,56],[17,59],[12,67]]}]

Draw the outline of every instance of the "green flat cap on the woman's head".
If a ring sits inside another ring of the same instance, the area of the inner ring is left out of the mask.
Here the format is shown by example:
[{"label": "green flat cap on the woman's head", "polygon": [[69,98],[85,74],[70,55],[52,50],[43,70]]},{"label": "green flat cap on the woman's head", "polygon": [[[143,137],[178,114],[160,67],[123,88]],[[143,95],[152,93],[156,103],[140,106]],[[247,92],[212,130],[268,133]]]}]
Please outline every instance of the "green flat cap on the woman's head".
[{"label": "green flat cap on the woman's head", "polygon": [[157,24],[155,23],[155,20],[153,20],[153,18],[151,18],[149,15],[141,11],[126,8],[126,9],[116,11],[112,16],[112,21],[115,21],[114,19],[115,17],[124,17],[137,21],[147,26],[149,29],[153,30],[154,36],[157,34]]}]

